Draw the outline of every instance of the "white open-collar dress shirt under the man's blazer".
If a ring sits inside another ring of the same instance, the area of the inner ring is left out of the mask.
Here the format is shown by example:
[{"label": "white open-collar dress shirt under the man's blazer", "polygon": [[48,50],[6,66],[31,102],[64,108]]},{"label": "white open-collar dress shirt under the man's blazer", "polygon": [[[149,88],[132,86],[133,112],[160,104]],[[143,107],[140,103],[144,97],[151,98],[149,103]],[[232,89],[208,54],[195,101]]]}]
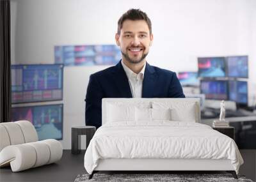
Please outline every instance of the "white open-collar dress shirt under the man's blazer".
[{"label": "white open-collar dress shirt under the man's blazer", "polygon": [[142,84],[143,84],[143,77],[145,72],[146,63],[144,64],[143,68],[141,69],[140,73],[136,74],[132,72],[130,68],[128,68],[123,61],[121,61],[124,71],[127,75],[129,80],[129,85],[131,88],[131,93],[133,98],[141,98],[142,95]]}]

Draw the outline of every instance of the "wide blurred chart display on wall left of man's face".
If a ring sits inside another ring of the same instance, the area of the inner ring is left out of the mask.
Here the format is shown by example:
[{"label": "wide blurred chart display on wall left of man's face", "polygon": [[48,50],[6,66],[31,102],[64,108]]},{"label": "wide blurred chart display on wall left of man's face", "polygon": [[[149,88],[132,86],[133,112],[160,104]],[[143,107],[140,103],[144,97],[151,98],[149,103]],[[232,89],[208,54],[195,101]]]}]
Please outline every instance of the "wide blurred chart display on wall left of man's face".
[{"label": "wide blurred chart display on wall left of man's face", "polygon": [[63,45],[54,47],[55,63],[65,66],[116,64],[121,59],[116,45]]}]

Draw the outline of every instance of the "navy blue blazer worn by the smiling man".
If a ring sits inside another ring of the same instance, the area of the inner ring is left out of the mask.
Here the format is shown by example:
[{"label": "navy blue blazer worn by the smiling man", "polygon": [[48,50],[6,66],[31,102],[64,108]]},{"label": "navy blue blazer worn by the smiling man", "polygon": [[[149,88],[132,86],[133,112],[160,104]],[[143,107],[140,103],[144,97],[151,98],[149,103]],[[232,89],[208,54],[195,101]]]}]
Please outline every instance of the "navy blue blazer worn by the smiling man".
[{"label": "navy blue blazer worn by the smiling man", "polygon": [[[142,98],[184,98],[174,72],[146,64]],[[99,128],[102,124],[102,98],[132,98],[131,88],[121,61],[90,75],[86,93],[85,123]]]}]

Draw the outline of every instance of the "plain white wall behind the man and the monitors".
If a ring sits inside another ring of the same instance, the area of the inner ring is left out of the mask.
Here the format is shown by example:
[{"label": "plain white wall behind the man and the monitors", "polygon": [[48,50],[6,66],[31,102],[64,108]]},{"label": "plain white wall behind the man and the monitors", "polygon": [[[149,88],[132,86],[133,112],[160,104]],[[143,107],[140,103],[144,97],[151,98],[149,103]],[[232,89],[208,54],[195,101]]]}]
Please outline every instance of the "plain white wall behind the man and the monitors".
[{"label": "plain white wall behind the man and the monitors", "polygon": [[[148,63],[155,66],[196,71],[198,56],[248,55],[252,104],[256,94],[254,0],[11,0],[12,63],[54,63],[54,45],[113,44],[117,21],[129,8],[141,8],[152,20],[154,43]],[[84,125],[89,76],[106,67],[64,68],[65,149],[70,149],[71,126]]]}]

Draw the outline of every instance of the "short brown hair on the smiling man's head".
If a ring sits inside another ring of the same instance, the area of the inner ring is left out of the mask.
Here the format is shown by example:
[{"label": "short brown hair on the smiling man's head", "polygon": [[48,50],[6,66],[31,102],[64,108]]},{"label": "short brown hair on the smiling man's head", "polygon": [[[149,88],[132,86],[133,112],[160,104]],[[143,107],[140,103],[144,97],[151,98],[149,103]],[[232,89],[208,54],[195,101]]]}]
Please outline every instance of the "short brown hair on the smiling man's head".
[{"label": "short brown hair on the smiling man's head", "polygon": [[150,34],[152,34],[152,25],[151,21],[148,18],[147,14],[140,9],[130,9],[120,17],[118,20],[117,34],[120,34],[120,31],[123,27],[125,20],[145,20],[148,24],[148,29]]}]

